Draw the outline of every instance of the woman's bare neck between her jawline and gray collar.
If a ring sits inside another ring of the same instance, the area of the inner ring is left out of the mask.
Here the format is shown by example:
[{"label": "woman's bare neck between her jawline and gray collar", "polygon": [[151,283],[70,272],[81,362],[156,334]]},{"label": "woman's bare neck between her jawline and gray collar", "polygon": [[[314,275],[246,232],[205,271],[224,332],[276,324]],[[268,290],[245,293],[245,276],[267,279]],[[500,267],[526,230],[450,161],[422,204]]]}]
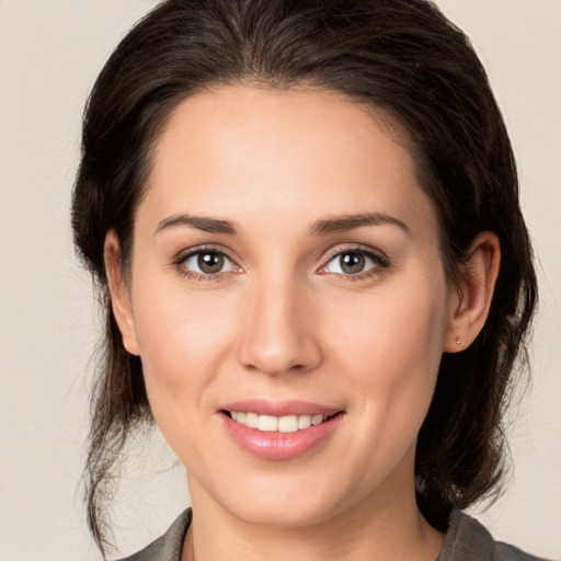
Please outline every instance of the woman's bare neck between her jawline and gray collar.
[{"label": "woman's bare neck between her jawline and gray collar", "polygon": [[444,541],[419,512],[413,484],[391,500],[367,496],[328,519],[288,528],[247,523],[196,482],[190,488],[194,516],[182,561],[434,561]]}]

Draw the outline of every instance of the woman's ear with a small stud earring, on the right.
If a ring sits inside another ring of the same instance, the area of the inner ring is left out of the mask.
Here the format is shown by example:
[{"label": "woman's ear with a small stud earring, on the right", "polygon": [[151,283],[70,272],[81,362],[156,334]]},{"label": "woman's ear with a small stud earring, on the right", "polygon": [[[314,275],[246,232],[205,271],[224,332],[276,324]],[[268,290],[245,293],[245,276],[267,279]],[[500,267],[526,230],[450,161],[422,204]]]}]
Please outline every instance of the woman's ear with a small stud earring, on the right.
[{"label": "woman's ear with a small stud earring, on the right", "polygon": [[483,329],[500,263],[499,238],[491,231],[481,232],[470,245],[468,263],[462,267],[459,285],[450,302],[445,353],[463,351]]}]

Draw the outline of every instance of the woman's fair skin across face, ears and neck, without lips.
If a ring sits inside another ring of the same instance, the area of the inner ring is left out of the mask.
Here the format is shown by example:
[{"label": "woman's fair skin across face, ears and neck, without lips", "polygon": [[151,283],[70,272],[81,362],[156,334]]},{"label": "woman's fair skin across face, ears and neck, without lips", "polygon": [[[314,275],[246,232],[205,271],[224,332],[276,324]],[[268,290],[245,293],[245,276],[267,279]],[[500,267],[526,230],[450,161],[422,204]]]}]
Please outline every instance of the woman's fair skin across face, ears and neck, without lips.
[{"label": "woman's fair skin across face, ears and neck, without lips", "polygon": [[[391,220],[313,232],[366,213]],[[237,231],[176,224],[185,214]],[[218,274],[182,261],[201,245],[228,255]],[[348,274],[334,254],[357,248],[375,257]],[[243,85],[182,102],[157,144],[128,274],[113,232],[105,260],[124,344],[188,473],[184,560],[193,547],[197,561],[434,560],[443,535],[416,508],[416,436],[442,353],[485,321],[499,259],[482,232],[470,274],[448,282],[435,209],[380,112]],[[320,446],[270,460],[225,431],[220,407],[247,398],[344,413]]]}]

